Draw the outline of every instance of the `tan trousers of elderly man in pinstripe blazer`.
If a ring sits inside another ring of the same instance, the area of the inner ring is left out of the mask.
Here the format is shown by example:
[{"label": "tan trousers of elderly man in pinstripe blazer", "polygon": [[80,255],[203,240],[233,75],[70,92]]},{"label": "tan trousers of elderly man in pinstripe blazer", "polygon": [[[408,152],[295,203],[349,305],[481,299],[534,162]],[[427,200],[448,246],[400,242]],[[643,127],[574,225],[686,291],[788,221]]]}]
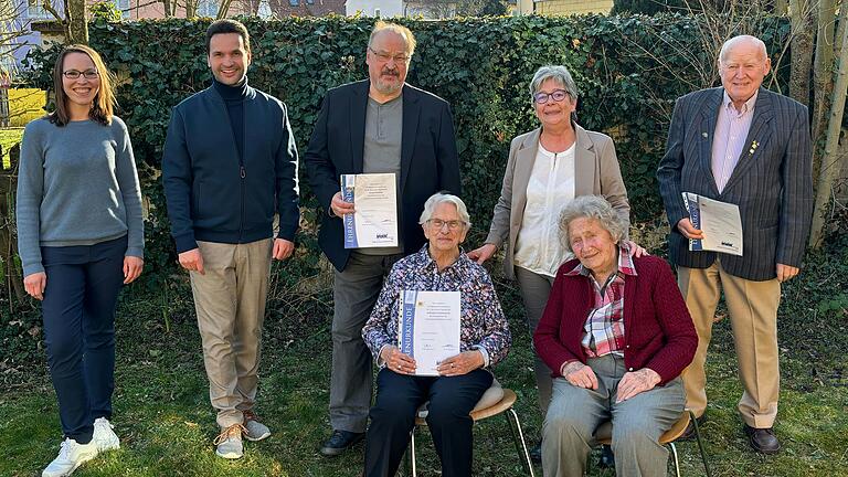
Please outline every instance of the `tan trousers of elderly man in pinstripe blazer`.
[{"label": "tan trousers of elderly man in pinstripe blazer", "polygon": [[727,273],[717,259],[709,268],[678,267],[678,285],[698,331],[698,351],[681,374],[687,407],[707,409],[704,362],[721,292],[730,312],[739,378],[744,389],[738,409],[751,427],[771,427],[777,416],[781,372],[777,363],[777,278],[753,282]]}]

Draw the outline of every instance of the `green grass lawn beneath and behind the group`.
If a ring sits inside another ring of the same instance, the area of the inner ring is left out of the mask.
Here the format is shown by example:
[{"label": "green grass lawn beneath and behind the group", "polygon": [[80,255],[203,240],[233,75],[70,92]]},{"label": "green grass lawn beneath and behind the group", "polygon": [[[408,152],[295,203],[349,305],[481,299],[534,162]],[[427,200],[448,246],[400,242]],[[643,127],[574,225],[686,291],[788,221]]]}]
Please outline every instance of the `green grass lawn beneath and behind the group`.
[{"label": "green grass lawn beneath and behind the group", "polygon": [[[848,264],[845,256],[841,263]],[[846,316],[844,311],[818,312],[809,300],[815,287],[835,284],[837,290],[846,289],[845,274],[834,278],[831,268],[828,262],[814,265],[784,294],[780,321],[783,389],[776,425],[784,447],[776,456],[757,455],[748,446],[735,411],[741,389],[730,325],[723,320],[716,326],[708,369],[711,402],[701,427],[714,476],[848,475],[848,381],[842,364],[848,348]],[[513,347],[496,374],[518,393],[517,411],[534,441],[541,420],[534,410],[529,337],[515,289],[501,284],[500,290]],[[171,332],[165,332],[158,298],[126,298],[117,322],[114,400],[121,448],[86,464],[75,476],[359,475],[361,445],[333,459],[318,454],[319,443],[329,432],[329,293],[297,301],[297,309],[292,304],[271,304],[257,411],[273,434],[264,442],[246,443],[245,457],[236,462],[214,455],[216,427],[191,303],[183,298],[171,304]],[[0,396],[0,476],[40,475],[55,456],[61,437],[54,393],[43,359],[25,372],[19,372],[13,379],[22,383]],[[475,435],[477,475],[524,475],[504,418],[478,423]],[[418,475],[441,475],[430,438],[426,433],[420,436]],[[703,475],[697,445],[683,442],[678,448],[682,474]],[[592,476],[614,475],[593,468]],[[541,476],[540,467],[537,475]]]}]

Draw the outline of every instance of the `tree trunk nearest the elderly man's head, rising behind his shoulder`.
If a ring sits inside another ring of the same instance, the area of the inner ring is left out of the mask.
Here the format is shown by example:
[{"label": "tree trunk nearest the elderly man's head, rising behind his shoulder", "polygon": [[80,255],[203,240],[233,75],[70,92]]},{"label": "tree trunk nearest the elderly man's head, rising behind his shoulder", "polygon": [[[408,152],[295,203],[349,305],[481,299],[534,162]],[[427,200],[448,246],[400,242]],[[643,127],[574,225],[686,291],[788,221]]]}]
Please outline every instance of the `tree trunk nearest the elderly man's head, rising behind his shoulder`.
[{"label": "tree trunk nearest the elderly man's head, rising behind his shoulder", "polygon": [[813,9],[808,1],[791,0],[792,67],[789,68],[789,96],[809,105],[809,70],[813,64]]}]

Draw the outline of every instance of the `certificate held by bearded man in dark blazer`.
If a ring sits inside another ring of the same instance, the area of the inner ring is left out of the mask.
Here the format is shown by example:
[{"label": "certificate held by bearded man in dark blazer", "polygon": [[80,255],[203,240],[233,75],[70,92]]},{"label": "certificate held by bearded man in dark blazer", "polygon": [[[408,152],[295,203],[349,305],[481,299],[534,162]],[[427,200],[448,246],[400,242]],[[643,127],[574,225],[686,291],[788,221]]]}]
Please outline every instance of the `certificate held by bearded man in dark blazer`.
[{"label": "certificate held by bearded man in dark blazer", "polygon": [[342,174],[341,198],[356,206],[356,212],[344,214],[344,248],[398,246],[393,173]]}]

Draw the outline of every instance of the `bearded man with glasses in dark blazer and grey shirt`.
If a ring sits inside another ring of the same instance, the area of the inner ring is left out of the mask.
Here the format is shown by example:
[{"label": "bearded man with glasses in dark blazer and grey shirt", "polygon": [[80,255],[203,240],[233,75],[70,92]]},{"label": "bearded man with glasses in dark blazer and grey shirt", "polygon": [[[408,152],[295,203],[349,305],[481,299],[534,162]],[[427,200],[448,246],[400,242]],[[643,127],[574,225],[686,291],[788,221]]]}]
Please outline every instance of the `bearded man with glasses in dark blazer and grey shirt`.
[{"label": "bearded man with glasses in dark blazer and grey shirt", "polygon": [[[409,29],[378,22],[368,42],[369,80],[327,92],[304,156],[309,183],[324,210],[318,242],[336,268],[330,424],[321,454],[359,442],[371,404],[371,353],[362,326],[383,278],[399,258],[425,243],[418,225],[424,202],[438,191],[459,194],[459,161],[448,104],[404,83],[415,39]],[[399,246],[344,248],[340,176],[394,173]]]}]

